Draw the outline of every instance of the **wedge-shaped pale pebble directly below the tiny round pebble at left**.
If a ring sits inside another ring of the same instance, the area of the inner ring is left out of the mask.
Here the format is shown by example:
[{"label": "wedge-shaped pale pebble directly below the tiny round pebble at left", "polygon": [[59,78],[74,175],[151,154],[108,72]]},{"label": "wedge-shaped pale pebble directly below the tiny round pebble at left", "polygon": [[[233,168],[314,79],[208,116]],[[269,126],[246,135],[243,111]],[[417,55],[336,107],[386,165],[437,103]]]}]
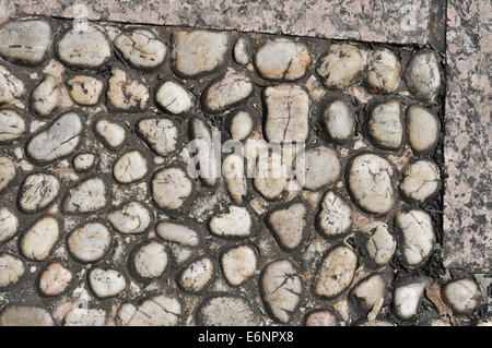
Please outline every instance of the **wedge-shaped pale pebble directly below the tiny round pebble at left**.
[{"label": "wedge-shaped pale pebble directly below the tiny round pebble at left", "polygon": [[106,206],[106,185],[99,178],[92,178],[69,191],[63,208],[67,213],[92,213]]}]

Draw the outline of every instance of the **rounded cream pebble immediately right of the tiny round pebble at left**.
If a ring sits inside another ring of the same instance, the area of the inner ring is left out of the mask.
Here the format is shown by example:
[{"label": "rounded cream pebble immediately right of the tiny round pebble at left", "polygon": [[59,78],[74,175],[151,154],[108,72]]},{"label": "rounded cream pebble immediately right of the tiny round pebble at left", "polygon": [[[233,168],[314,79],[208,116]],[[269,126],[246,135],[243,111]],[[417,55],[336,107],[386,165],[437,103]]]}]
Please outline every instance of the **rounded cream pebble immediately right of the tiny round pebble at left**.
[{"label": "rounded cream pebble immediately right of the tiny round pebble at left", "polygon": [[113,175],[119,183],[132,183],[143,179],[148,172],[147,160],[138,151],[125,153],[113,168]]}]

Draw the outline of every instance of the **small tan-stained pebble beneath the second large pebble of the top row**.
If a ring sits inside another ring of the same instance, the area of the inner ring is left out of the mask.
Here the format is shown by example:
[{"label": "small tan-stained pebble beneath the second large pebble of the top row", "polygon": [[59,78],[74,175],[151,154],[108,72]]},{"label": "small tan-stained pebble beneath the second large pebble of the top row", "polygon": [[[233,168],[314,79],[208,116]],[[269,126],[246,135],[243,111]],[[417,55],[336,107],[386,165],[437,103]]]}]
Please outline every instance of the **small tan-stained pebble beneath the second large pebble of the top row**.
[{"label": "small tan-stained pebble beneath the second large pebble of the top row", "polygon": [[101,80],[87,75],[75,75],[67,81],[67,85],[72,100],[83,106],[99,103],[104,88]]}]

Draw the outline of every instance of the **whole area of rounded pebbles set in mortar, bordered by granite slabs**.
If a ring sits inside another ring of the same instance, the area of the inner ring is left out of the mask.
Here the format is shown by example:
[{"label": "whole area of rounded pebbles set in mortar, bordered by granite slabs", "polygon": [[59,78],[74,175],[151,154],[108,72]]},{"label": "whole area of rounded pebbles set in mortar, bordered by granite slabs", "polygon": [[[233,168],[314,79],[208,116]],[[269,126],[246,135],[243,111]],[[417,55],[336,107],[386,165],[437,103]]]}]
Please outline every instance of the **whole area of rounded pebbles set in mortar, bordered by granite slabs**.
[{"label": "whole area of rounded pebbles set in mortar, bordered by granite slabs", "polygon": [[0,43],[0,325],[491,324],[443,265],[437,50],[33,16]]}]

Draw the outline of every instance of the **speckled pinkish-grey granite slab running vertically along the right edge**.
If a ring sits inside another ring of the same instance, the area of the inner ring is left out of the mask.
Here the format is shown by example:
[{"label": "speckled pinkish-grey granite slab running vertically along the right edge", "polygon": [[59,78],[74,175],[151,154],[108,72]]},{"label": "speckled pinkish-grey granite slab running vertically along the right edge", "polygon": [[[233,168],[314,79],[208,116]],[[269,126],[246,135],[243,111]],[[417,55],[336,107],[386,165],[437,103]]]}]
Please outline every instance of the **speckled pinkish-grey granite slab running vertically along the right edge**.
[{"label": "speckled pinkish-grey granite slab running vertically along the right edge", "polygon": [[449,1],[444,197],[445,266],[491,272],[492,4]]}]

